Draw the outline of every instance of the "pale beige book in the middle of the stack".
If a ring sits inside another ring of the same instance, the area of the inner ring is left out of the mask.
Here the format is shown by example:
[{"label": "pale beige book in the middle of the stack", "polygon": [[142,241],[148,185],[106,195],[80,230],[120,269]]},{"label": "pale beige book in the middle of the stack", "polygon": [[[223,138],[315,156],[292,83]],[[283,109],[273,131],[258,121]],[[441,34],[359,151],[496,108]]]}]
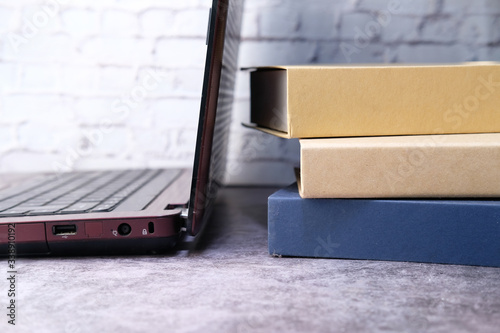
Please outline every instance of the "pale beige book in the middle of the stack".
[{"label": "pale beige book in the middle of the stack", "polygon": [[303,198],[499,197],[500,133],[302,139]]}]

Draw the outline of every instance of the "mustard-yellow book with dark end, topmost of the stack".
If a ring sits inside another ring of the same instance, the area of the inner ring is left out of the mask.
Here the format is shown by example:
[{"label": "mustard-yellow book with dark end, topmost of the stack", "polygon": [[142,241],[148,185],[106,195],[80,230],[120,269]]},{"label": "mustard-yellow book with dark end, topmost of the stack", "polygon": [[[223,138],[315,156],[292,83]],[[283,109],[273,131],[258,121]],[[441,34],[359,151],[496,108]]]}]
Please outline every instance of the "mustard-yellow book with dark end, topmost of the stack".
[{"label": "mustard-yellow book with dark end, topmost of the stack", "polygon": [[260,67],[251,122],[285,138],[500,132],[500,64]]}]

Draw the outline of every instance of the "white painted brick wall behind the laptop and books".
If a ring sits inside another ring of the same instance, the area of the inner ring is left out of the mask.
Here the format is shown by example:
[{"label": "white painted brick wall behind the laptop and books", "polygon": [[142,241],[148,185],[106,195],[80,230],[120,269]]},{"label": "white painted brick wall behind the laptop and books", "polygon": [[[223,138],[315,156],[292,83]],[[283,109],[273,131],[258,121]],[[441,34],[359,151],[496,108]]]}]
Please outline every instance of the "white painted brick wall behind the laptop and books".
[{"label": "white painted brick wall behind the laptop and books", "polygon": [[[191,165],[210,2],[0,0],[0,171]],[[500,60],[500,1],[247,0],[242,36],[242,67]],[[240,72],[228,181],[291,182],[248,99]]]}]

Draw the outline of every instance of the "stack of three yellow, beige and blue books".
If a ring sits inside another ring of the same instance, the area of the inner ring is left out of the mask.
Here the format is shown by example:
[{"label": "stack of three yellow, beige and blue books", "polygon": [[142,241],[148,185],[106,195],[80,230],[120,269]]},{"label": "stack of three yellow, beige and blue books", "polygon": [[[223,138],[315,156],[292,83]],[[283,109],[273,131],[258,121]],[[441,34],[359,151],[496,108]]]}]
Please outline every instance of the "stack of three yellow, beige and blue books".
[{"label": "stack of three yellow, beige and blue books", "polygon": [[271,254],[500,266],[500,64],[254,68],[251,122],[301,145]]}]

